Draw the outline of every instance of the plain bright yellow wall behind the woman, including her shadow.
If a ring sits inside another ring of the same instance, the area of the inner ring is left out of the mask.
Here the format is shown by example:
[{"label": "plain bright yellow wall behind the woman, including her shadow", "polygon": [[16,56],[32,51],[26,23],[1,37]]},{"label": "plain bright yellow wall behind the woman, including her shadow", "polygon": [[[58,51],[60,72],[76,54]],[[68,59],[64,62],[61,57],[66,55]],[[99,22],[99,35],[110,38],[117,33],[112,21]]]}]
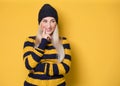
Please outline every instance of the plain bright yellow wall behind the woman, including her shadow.
[{"label": "plain bright yellow wall behind the woman, including her shadow", "polygon": [[120,86],[120,2],[117,0],[0,0],[0,86],[23,86],[22,48],[36,35],[44,3],[59,14],[72,48],[68,86]]}]

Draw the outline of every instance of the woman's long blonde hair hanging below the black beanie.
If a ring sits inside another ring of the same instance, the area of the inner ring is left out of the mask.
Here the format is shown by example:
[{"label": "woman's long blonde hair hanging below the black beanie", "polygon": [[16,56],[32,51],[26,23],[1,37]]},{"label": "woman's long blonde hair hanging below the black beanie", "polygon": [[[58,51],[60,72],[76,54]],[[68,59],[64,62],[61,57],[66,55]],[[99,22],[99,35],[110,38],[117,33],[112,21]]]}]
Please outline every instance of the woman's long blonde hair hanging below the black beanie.
[{"label": "woman's long blonde hair hanging below the black beanie", "polygon": [[[40,26],[41,26],[41,24],[40,24]],[[40,27],[38,27],[38,31],[39,31],[39,34],[42,34],[42,29]],[[42,37],[40,37],[40,38],[42,38]],[[56,25],[56,28],[52,34],[51,42],[57,50],[58,61],[61,62],[64,59],[65,53],[64,53],[63,45],[61,43],[61,39],[59,37],[58,25]]]}]

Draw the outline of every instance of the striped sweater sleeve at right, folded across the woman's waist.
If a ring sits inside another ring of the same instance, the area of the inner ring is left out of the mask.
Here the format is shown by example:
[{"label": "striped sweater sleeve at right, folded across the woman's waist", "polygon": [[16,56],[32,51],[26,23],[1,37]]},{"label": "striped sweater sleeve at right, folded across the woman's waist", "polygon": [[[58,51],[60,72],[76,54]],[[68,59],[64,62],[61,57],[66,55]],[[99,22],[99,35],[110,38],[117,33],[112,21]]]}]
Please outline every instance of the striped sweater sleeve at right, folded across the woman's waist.
[{"label": "striped sweater sleeve at right, folded across the woman's waist", "polygon": [[[65,57],[59,63],[46,63],[46,74],[50,76],[67,74],[71,68],[71,48],[69,42],[65,39],[63,41]],[[39,64],[41,65],[41,64]],[[40,71],[38,67],[37,71]]]}]

